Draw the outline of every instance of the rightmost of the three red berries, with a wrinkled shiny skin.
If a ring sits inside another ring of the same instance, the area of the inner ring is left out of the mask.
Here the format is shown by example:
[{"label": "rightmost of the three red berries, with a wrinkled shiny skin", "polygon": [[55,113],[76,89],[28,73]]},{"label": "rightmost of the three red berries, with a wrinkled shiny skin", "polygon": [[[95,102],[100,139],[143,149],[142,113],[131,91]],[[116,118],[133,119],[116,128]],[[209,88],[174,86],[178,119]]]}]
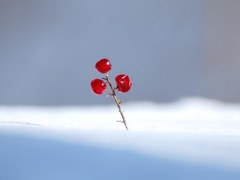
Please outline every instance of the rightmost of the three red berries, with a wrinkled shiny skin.
[{"label": "rightmost of the three red berries, with a wrinkled shiny skin", "polygon": [[132,87],[132,81],[126,74],[116,76],[115,81],[119,92],[128,92]]}]

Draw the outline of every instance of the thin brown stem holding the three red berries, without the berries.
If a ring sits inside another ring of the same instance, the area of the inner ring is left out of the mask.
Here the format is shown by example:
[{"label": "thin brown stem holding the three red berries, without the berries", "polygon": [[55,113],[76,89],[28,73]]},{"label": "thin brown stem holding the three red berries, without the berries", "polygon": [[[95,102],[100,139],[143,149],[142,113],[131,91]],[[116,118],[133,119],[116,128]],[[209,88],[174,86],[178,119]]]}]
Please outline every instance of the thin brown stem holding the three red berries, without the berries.
[{"label": "thin brown stem holding the three red berries, without the berries", "polygon": [[113,99],[114,99],[114,101],[115,101],[115,103],[116,103],[116,105],[117,105],[117,107],[118,107],[119,113],[121,114],[122,121],[119,121],[119,122],[122,122],[122,123],[125,125],[126,130],[128,130],[127,122],[126,122],[126,119],[125,119],[125,117],[124,117],[124,114],[123,114],[121,105],[120,105],[121,101],[118,99],[118,97],[117,97],[117,95],[116,95],[116,92],[115,92],[116,88],[113,88],[112,83],[111,83],[111,80],[109,79],[108,74],[106,74],[106,78],[104,78],[104,79],[108,82],[108,85],[109,85],[109,87],[111,88],[111,91],[112,91],[112,94],[111,94],[111,95],[112,95],[112,97],[113,97]]}]

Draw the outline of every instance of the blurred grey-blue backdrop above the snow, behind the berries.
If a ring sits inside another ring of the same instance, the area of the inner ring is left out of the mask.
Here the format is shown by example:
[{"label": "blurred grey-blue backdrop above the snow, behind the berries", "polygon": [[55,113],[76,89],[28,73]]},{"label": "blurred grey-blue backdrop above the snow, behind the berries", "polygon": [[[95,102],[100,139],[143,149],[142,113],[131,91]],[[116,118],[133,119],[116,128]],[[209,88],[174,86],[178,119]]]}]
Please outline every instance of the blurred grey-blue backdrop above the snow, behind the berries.
[{"label": "blurred grey-blue backdrop above the snow, behind the berries", "polygon": [[240,102],[240,1],[0,0],[0,104],[112,103],[90,90],[100,58],[126,101]]}]

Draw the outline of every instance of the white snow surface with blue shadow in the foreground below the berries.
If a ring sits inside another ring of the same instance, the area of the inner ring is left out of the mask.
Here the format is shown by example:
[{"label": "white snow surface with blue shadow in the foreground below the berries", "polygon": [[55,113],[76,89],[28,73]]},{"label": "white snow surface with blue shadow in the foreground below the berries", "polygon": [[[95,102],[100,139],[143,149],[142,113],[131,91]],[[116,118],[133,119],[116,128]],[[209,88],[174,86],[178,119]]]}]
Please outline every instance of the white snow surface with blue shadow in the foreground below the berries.
[{"label": "white snow surface with blue shadow in the foreground below the berries", "polygon": [[240,104],[123,108],[129,131],[114,104],[0,106],[0,179],[240,178]]}]

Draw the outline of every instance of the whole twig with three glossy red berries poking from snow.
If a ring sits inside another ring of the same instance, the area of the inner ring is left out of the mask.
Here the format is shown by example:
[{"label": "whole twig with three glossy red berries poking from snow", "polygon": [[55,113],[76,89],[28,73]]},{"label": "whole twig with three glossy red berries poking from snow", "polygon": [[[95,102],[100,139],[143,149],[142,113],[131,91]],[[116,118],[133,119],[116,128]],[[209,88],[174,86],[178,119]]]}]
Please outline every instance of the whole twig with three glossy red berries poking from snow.
[{"label": "whole twig with three glossy red berries poking from snow", "polygon": [[107,91],[107,84],[109,85],[111,89],[111,93],[109,93],[109,95],[113,96],[114,101],[118,106],[118,110],[122,116],[122,121],[119,122],[122,122],[128,130],[127,123],[120,106],[121,101],[116,96],[116,90],[121,93],[128,92],[132,87],[131,79],[126,74],[119,74],[115,77],[116,87],[113,87],[108,76],[108,72],[112,69],[111,62],[106,58],[101,59],[96,63],[95,68],[100,73],[105,74],[105,77],[103,77],[102,79],[96,78],[91,81],[92,91],[97,95],[101,95]]}]

